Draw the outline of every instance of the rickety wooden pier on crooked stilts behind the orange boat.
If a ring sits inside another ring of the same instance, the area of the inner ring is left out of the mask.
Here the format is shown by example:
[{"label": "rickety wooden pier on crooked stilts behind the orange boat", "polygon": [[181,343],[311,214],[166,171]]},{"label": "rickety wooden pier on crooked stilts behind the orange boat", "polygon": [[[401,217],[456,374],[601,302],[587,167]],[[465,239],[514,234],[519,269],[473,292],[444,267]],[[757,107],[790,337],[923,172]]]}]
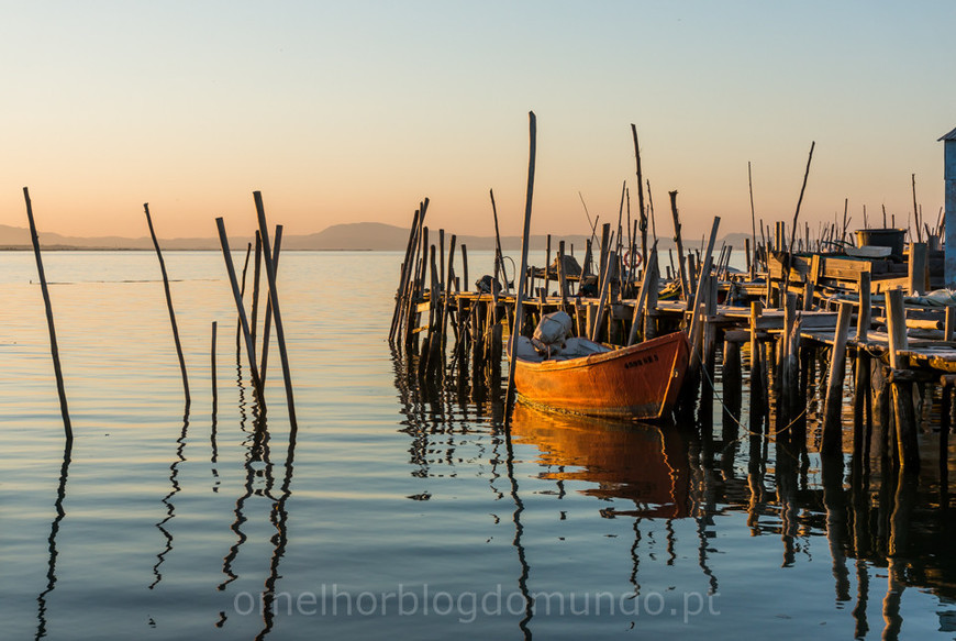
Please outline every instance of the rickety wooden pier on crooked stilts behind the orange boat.
[{"label": "rickety wooden pier on crooked stilts behind the orange boat", "polygon": [[[446,263],[444,244],[429,243],[426,207],[410,233],[391,341],[415,361],[423,380],[471,376],[500,385],[503,342],[515,331],[515,284],[501,277],[500,252],[493,273],[471,283],[465,246],[455,262],[454,235]],[[935,239],[909,243],[902,255],[848,245],[824,251],[809,237],[792,253],[755,242],[747,247],[747,272],[737,272],[727,266],[730,247],[712,254],[718,224],[707,250],[689,251],[679,257],[680,269],[667,266],[664,276],[656,243],[642,254],[636,234],[629,248],[610,225],[600,246],[588,243],[582,265],[565,253],[564,242],[548,239],[557,247],[548,251],[549,264],[523,275],[531,294],[521,333],[530,335],[557,310],[570,314],[575,335],[614,346],[686,331],[696,368],[685,391],[699,398],[699,420],[712,423],[708,410],[712,417],[720,402],[725,426],[751,434],[805,435],[808,402],[816,402],[808,398],[808,384],[819,376],[822,419],[814,429],[821,453],[870,454],[875,447],[872,454],[910,471],[920,465],[918,433],[935,427],[924,405],[938,398],[945,464],[956,386],[956,297],[932,290],[942,284],[942,252],[929,248],[938,246]],[[625,259],[629,254],[641,259]],[[749,417],[741,416],[745,390]]]}]

